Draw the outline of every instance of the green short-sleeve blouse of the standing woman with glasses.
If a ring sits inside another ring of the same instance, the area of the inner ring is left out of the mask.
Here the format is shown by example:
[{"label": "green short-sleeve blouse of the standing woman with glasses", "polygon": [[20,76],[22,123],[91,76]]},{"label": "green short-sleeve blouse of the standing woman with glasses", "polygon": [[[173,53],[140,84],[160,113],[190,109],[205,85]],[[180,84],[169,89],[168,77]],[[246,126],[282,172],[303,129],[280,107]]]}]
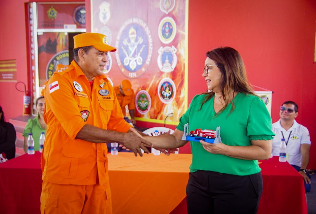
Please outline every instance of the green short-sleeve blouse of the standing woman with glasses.
[{"label": "green short-sleeve blouse of the standing woman with glasses", "polygon": [[[270,114],[264,102],[257,96],[238,93],[232,105],[216,116],[214,97],[201,104],[206,94],[196,95],[188,110],[179,119],[177,129],[184,130],[189,123],[189,131],[196,128],[213,129],[221,127],[222,142],[229,146],[250,146],[251,140],[271,140],[275,135],[272,130]],[[229,114],[230,113],[230,114]],[[190,171],[208,170],[232,175],[251,175],[260,172],[257,160],[242,160],[220,154],[211,154],[204,150],[199,142],[191,141],[192,163]]]}]

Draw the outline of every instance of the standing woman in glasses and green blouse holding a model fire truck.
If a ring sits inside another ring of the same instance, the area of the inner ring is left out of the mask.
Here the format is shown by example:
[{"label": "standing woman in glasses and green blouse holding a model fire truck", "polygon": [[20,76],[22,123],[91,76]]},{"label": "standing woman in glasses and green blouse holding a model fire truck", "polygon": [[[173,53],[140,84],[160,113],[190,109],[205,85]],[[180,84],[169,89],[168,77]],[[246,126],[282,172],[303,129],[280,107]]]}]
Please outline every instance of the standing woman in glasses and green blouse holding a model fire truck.
[{"label": "standing woman in glasses and green blouse holding a model fire truck", "polygon": [[196,95],[173,134],[146,136],[156,148],[178,148],[184,125],[216,130],[222,143],[191,141],[186,187],[188,213],[256,213],[262,193],[258,159],[272,149],[271,117],[253,93],[240,54],[230,47],[207,52],[203,77],[209,91]]}]

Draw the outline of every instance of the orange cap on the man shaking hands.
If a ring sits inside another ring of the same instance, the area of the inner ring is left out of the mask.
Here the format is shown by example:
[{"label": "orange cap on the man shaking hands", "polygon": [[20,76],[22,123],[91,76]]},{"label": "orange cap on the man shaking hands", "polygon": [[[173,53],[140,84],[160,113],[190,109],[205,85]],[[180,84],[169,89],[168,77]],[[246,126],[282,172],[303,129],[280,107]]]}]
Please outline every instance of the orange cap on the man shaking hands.
[{"label": "orange cap on the man shaking hands", "polygon": [[101,33],[80,33],[74,36],[74,48],[93,46],[99,51],[116,51],[106,42],[106,35]]}]

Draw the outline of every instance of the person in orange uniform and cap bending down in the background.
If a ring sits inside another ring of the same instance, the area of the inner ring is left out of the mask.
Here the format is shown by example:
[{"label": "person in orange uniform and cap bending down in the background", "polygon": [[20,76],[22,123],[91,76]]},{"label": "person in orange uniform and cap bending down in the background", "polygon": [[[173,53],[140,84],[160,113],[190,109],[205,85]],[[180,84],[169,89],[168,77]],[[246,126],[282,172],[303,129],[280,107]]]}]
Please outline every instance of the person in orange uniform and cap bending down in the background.
[{"label": "person in orange uniform and cap bending down in the background", "polygon": [[122,108],[123,115],[125,116],[125,106],[128,105],[128,110],[131,116],[131,121],[136,124],[135,114],[135,93],[132,89],[132,84],[129,80],[123,80],[121,85],[115,86],[114,91],[118,98],[119,105]]}]

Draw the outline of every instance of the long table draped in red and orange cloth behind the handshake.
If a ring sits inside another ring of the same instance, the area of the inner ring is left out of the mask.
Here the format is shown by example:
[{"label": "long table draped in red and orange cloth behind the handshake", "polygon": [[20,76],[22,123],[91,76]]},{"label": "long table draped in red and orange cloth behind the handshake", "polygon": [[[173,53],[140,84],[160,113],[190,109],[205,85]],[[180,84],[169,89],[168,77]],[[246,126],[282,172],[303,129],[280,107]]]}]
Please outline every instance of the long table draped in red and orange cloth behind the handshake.
[{"label": "long table draped in red and orange cloth behind the handshake", "polygon": [[[186,213],[191,154],[108,154],[113,213]],[[277,157],[262,161],[263,213],[307,213],[301,175]],[[1,213],[40,213],[40,153],[0,164]]]}]

